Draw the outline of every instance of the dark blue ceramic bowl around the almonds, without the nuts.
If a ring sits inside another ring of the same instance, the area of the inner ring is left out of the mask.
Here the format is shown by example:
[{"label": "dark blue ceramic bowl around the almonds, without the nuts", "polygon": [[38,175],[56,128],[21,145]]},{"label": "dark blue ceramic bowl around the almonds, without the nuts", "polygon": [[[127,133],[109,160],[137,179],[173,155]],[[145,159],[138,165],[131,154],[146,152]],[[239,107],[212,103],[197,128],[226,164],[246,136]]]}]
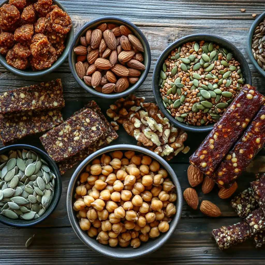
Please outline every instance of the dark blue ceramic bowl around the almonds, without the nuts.
[{"label": "dark blue ceramic bowl around the almonds, without the nuts", "polygon": [[[80,37],[85,36],[87,30],[95,29],[101,23],[114,23],[117,25],[126,25],[131,30],[131,32],[133,32],[133,34],[140,40],[140,42],[142,43],[142,45],[144,47],[144,53],[143,53],[144,61],[142,63],[145,65],[145,70],[142,71],[142,74],[138,77],[139,80],[137,83],[135,83],[134,85],[130,84],[129,87],[121,93],[104,94],[104,93],[98,92],[92,86],[88,86],[83,80],[81,80],[76,73],[75,64],[77,62],[76,61],[77,55],[74,52],[74,48],[76,46],[80,45],[80,42],[79,42]],[[140,87],[140,85],[142,85],[142,83],[144,82],[144,80],[147,77],[147,74],[149,72],[150,64],[151,64],[151,51],[150,51],[148,41],[145,38],[143,32],[138,27],[136,27],[133,23],[131,23],[130,21],[123,19],[121,17],[117,17],[117,16],[99,17],[97,19],[91,20],[90,22],[86,23],[76,33],[76,36],[73,39],[72,45],[70,47],[70,52],[69,52],[70,69],[71,69],[71,72],[72,72],[75,80],[77,81],[77,83],[81,87],[83,87],[85,90],[90,92],[91,94],[93,94],[95,96],[99,96],[101,98],[121,98],[123,96],[131,94],[135,89]]]}]

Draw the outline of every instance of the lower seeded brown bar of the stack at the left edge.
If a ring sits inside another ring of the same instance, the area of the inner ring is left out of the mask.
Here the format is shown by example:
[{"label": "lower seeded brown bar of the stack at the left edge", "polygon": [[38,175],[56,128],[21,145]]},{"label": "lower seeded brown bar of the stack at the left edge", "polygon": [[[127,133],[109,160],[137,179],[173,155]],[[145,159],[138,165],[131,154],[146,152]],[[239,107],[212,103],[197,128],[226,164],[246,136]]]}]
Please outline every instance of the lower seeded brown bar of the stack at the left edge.
[{"label": "lower seeded brown bar of the stack at the left edge", "polygon": [[26,135],[50,130],[62,122],[60,109],[0,114],[0,138],[5,145]]}]

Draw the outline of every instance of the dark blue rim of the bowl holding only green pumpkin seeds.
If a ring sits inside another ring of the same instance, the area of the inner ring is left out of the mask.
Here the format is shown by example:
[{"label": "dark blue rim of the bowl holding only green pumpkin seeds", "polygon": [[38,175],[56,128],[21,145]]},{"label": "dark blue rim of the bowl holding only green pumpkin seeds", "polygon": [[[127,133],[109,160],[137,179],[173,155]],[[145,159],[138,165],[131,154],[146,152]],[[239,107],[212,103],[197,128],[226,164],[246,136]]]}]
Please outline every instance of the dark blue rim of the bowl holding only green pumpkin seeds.
[{"label": "dark blue rim of the bowl holding only green pumpkin seeds", "polygon": [[[57,205],[59,203],[59,200],[60,200],[60,197],[61,197],[61,193],[62,193],[61,174],[60,174],[60,171],[58,169],[58,166],[55,164],[55,162],[52,160],[52,158],[47,153],[45,153],[44,151],[42,151],[41,149],[39,149],[39,148],[37,148],[35,146],[28,145],[28,144],[13,144],[13,145],[8,145],[8,146],[5,146],[5,147],[1,148],[0,149],[0,153],[2,154],[3,152],[11,151],[13,149],[31,149],[31,150],[35,151],[36,153],[41,154],[41,156],[43,158],[45,158],[45,160],[48,160],[54,166],[54,168],[56,170],[56,172],[54,172],[54,174],[56,175],[56,178],[58,178],[58,183],[59,183],[58,192],[57,192],[58,193],[58,199],[55,201],[55,203],[54,203],[54,205],[52,207],[48,207],[48,209],[46,210],[48,212],[48,214],[43,215],[43,217],[41,216],[38,219],[35,219],[35,221],[30,220],[29,224],[15,224],[15,223],[12,223],[12,219],[8,219],[10,221],[6,221],[6,220],[1,220],[0,219],[1,223],[6,224],[8,226],[12,226],[12,227],[34,226],[35,224],[38,224],[38,223],[42,222],[44,219],[46,219],[55,210],[55,208],[57,207]],[[55,197],[54,197],[54,199],[55,199]]]}]

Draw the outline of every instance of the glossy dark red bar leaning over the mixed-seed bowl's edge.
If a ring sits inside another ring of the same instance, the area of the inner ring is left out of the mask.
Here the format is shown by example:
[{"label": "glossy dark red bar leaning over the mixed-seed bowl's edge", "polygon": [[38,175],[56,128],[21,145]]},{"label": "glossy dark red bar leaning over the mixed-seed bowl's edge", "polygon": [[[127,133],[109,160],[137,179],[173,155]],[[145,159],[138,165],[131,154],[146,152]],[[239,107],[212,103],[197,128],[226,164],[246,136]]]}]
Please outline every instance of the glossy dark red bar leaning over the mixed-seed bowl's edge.
[{"label": "glossy dark red bar leaning over the mixed-seed bowl's edge", "polygon": [[[255,87],[245,85],[205,141],[189,158],[190,163],[211,177],[263,101],[263,95]],[[224,183],[220,181],[219,184],[222,186]]]}]

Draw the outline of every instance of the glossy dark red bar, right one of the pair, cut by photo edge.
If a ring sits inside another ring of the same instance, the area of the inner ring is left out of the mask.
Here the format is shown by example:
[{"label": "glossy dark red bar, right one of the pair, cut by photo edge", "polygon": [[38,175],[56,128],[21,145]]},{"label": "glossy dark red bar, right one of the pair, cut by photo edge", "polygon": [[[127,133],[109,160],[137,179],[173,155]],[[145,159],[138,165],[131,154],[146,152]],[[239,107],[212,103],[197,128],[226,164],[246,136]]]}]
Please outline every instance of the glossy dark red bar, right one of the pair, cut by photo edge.
[{"label": "glossy dark red bar, right one of the pair, cut by photo edge", "polygon": [[217,169],[216,182],[231,187],[265,143],[265,105]]}]

